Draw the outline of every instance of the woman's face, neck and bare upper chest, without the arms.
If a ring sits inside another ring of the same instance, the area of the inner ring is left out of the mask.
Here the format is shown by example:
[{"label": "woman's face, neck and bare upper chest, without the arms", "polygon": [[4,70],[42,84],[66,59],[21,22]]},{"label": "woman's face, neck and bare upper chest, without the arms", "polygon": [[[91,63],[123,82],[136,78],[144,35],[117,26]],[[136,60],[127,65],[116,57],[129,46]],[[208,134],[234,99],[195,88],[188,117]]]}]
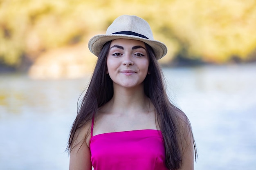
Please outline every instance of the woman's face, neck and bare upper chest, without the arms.
[{"label": "woman's face, neck and bare upper chest, without the arms", "polygon": [[143,81],[148,74],[148,65],[144,42],[112,41],[107,57],[107,73],[113,81],[114,96],[99,110],[93,135],[157,129],[153,104],[144,94]]}]

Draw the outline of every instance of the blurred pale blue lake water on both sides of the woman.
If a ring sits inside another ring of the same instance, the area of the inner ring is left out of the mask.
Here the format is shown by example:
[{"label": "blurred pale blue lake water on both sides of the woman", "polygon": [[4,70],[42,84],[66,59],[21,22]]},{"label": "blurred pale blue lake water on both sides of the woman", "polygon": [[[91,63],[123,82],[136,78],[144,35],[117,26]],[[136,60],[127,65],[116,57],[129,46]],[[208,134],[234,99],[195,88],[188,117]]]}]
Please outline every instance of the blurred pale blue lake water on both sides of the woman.
[{"label": "blurred pale blue lake water on both sides of the woman", "polygon": [[[193,127],[195,170],[255,170],[256,64],[163,70]],[[67,139],[89,79],[0,75],[0,170],[68,170]]]}]

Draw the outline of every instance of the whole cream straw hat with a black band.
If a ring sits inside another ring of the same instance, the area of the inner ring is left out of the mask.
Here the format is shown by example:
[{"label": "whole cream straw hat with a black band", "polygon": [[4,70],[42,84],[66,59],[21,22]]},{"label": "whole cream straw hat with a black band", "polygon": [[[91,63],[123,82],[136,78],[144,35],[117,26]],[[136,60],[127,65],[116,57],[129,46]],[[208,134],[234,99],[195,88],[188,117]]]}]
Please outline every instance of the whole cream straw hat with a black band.
[{"label": "whole cream straw hat with a black band", "polygon": [[115,39],[132,39],[147,43],[155,52],[157,60],[164,57],[167,47],[154,40],[148,22],[134,15],[121,15],[108,27],[105,35],[95,35],[88,43],[90,51],[99,57],[103,45]]}]

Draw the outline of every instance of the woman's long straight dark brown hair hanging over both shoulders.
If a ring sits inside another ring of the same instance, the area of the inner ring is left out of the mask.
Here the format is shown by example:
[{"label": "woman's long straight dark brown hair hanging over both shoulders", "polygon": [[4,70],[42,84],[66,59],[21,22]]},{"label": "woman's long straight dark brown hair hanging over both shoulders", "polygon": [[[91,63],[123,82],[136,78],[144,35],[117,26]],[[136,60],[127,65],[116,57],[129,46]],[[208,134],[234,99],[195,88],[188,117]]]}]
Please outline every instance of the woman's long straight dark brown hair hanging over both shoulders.
[{"label": "woman's long straight dark brown hair hanging over both shoulders", "polygon": [[[110,49],[110,43],[111,41],[104,44],[101,50],[92,74],[92,79],[78,108],[76,119],[74,120],[70,131],[67,146],[67,150],[69,152],[72,150],[71,146],[72,142],[75,141],[76,131],[89,121],[91,122],[93,115],[97,113],[98,109],[113,97],[113,82],[109,75],[106,74],[106,60]],[[180,109],[171,104],[168,99],[163,81],[163,72],[157,62],[153,49],[148,44],[145,43],[145,45],[149,56],[148,71],[150,74],[148,74],[144,80],[144,92],[154,104],[157,123],[159,124],[159,128],[164,137],[166,167],[170,170],[176,170],[179,169],[182,164],[183,148],[187,147],[183,146],[184,143],[180,144],[180,141],[182,141],[182,135],[180,134],[180,116],[178,116],[178,114],[182,114],[186,118],[186,123],[193,138],[193,141],[187,141],[186,144],[188,145],[189,142],[193,142],[196,158],[197,151],[195,141],[191,125],[186,115]]]}]

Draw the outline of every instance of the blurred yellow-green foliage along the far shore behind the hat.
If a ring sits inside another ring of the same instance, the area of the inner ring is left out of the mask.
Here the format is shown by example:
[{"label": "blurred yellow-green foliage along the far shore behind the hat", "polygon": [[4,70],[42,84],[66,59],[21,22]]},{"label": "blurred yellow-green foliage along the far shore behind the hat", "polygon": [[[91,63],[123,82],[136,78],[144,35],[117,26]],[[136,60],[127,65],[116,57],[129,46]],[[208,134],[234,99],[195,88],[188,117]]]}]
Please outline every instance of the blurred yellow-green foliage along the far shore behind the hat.
[{"label": "blurred yellow-green foliage along the far shore behind the hat", "polygon": [[[177,55],[225,63],[255,57],[255,0],[0,0],[0,62],[88,41],[119,15],[147,20]],[[252,54],[254,54],[252,56]]]}]

